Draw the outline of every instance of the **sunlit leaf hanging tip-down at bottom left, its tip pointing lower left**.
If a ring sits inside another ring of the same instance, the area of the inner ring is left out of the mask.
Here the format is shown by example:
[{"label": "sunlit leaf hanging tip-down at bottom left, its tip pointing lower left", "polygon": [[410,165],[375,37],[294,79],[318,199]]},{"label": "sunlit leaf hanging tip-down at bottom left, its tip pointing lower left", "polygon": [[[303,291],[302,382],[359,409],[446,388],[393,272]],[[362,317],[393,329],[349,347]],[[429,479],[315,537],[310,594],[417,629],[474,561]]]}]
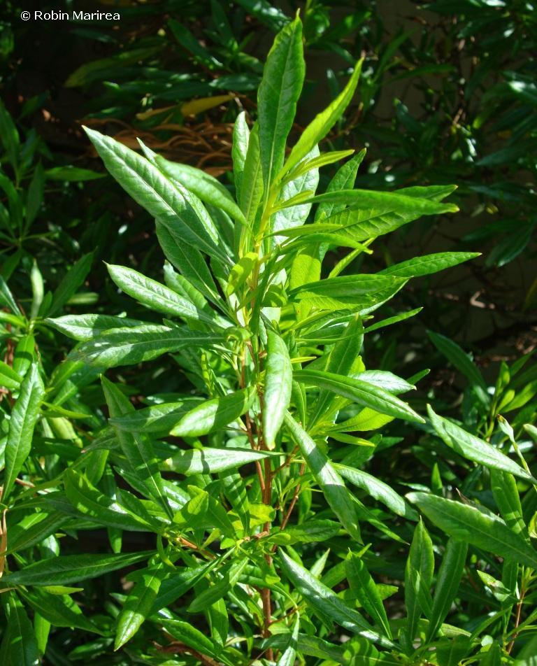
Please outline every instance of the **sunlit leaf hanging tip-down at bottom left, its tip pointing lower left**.
[{"label": "sunlit leaf hanging tip-down at bottom left, its tip pointing lower left", "polygon": [[169,572],[161,563],[136,572],[136,582],[117,616],[114,649],[127,643],[141,627],[152,610],[162,580]]}]

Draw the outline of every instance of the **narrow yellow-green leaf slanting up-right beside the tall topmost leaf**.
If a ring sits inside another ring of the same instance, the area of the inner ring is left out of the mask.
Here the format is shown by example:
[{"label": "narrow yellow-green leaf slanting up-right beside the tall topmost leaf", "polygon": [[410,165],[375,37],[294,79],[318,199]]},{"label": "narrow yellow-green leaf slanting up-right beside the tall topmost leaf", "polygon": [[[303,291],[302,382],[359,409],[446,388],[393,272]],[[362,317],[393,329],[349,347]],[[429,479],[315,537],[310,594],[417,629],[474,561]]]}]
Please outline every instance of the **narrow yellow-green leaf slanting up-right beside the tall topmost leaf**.
[{"label": "narrow yellow-green leaf slanting up-right beside the tall topmost leaf", "polygon": [[361,63],[361,60],[357,62],[355,70],[352,72],[352,76],[341,94],[339,94],[339,96],[336,97],[336,99],[334,99],[324,111],[317,114],[314,120],[312,120],[308,127],[306,127],[301,133],[299,141],[293,146],[281,173],[278,174],[278,178],[281,178],[285,173],[294,169],[296,164],[298,164],[303,157],[308,155],[313,146],[316,146],[317,143],[327,136],[332,127],[334,127],[336,122],[341,118],[345,112],[345,108],[349,106],[350,101],[355,94],[361,72]]}]

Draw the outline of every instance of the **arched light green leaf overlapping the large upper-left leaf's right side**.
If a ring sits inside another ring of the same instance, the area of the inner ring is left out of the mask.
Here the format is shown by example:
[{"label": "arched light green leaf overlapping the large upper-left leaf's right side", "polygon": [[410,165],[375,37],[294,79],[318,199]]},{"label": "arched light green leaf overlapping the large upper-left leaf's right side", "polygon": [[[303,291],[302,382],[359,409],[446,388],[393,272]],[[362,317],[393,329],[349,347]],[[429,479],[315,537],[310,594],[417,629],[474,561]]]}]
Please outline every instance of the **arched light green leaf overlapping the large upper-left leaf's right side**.
[{"label": "arched light green leaf overlapping the large upper-left leaf's right side", "polygon": [[213,176],[201,171],[201,169],[196,169],[195,166],[169,162],[169,160],[164,160],[164,157],[157,156],[155,163],[165,176],[177,180],[187,190],[194,192],[196,197],[199,197],[204,204],[221,208],[222,211],[228,213],[231,218],[238,220],[238,222],[246,222],[241,208],[237,206],[233,197],[229,194],[229,190]]}]

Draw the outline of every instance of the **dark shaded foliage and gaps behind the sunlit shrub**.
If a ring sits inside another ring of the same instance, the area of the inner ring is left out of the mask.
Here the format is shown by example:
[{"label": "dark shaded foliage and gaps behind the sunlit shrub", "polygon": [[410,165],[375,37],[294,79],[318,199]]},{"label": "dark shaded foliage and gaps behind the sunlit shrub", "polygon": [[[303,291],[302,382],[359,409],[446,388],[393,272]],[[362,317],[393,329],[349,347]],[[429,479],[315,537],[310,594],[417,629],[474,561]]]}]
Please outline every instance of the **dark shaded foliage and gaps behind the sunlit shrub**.
[{"label": "dark shaded foliage and gaps behind the sunlit shrub", "polygon": [[[31,10],[31,4],[24,9]],[[170,0],[118,5],[118,24],[23,24],[20,4],[5,5],[1,173],[13,183],[16,197],[2,185],[1,201],[16,210],[20,206],[13,199],[20,198],[34,211],[30,219],[26,213],[22,233],[10,237],[2,229],[0,238],[0,272],[20,304],[27,309],[31,302],[34,260],[46,292],[57,288],[66,267],[93,253],[92,269],[65,311],[136,316],[136,306],[110,283],[101,259],[128,263],[159,279],[163,257],[148,214],[103,172],[80,122],[131,148],[140,136],[169,159],[208,169],[231,183],[232,123],[243,109],[256,117],[264,55],[300,8],[308,78],[293,138],[341,91],[363,56],[358,93],[325,149],[367,148],[357,187],[459,184],[452,200],[461,213],[434,222],[425,218],[391,234],[375,250],[375,268],[441,250],[483,253],[477,262],[422,278],[401,292],[394,311],[424,305],[419,322],[382,331],[366,353],[375,367],[403,376],[431,367],[414,401],[419,411],[434,402],[439,413],[489,434],[496,411],[476,406],[476,382],[468,379],[472,371],[464,358],[456,349],[446,351],[427,330],[441,331],[473,353],[487,382],[498,378],[506,391],[510,377],[501,361],[512,364],[536,344],[537,35],[530,3]],[[85,6],[95,8],[94,3],[76,8]],[[103,10],[114,6],[101,3]],[[65,3],[65,8],[72,6]],[[331,257],[334,265],[339,258]],[[35,281],[34,275],[34,290]],[[148,318],[145,310],[139,315]],[[43,362],[52,371],[71,345],[61,334],[41,335]],[[3,336],[7,357],[13,355],[8,337]],[[535,373],[528,372],[523,384],[533,387]],[[179,375],[163,386],[158,363],[122,370],[122,378],[138,404],[151,392],[173,392],[182,385]],[[520,392],[522,384],[513,390]],[[532,390],[526,403],[513,408],[524,408],[527,421],[536,411]],[[100,389],[88,387],[84,402],[101,405]],[[444,478],[463,493],[474,492],[468,463],[457,459],[447,467],[429,451],[429,434],[396,430],[386,439],[385,452],[375,455],[373,473],[387,478],[396,471],[401,493],[408,486],[429,486],[431,478],[437,486]],[[402,434],[405,446],[392,448]],[[96,536],[85,533],[87,548],[106,539]],[[137,538],[129,534],[131,549],[145,547]],[[403,556],[400,572],[377,573],[401,579],[402,562]],[[87,595],[94,595],[98,610],[103,583],[95,583],[94,590],[92,584]],[[108,584],[117,590],[113,576]],[[463,595],[470,609],[481,604],[473,600],[471,584]],[[389,603],[401,606],[401,597]],[[79,656],[85,656],[83,650]]]}]

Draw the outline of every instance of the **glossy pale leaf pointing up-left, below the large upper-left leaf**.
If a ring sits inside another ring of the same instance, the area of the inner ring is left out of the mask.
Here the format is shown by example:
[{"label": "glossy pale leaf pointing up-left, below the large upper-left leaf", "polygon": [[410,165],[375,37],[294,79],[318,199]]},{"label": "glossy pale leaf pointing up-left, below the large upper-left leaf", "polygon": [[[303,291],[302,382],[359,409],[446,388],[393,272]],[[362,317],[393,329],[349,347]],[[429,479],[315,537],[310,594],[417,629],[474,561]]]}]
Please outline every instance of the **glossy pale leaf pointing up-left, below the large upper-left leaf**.
[{"label": "glossy pale leaf pointing up-left, below the large upper-left leaf", "polygon": [[206,311],[199,310],[189,300],[138,271],[109,264],[108,273],[122,291],[152,310],[183,319],[215,323],[215,318]]}]

